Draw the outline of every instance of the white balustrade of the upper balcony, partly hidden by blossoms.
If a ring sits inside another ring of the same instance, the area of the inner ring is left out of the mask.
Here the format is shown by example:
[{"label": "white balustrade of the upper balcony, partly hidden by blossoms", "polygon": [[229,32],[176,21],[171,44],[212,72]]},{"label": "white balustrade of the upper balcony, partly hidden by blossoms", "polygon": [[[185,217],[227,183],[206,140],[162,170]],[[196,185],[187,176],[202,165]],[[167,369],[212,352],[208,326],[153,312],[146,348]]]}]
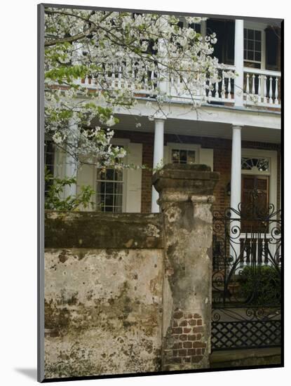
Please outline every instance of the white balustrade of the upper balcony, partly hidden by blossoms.
[{"label": "white balustrade of the upper balcony, partly hidden by blossoms", "polygon": [[[203,100],[218,105],[236,105],[234,96],[234,78],[230,72],[235,72],[234,66],[219,69],[221,81],[210,84],[204,82],[203,86],[195,88],[187,84],[179,76],[172,77],[167,84],[170,101],[189,102],[189,100]],[[121,68],[111,66],[107,70],[105,83],[100,84],[96,77],[80,79],[77,83],[87,88],[128,88],[137,97],[155,98],[156,88],[159,83],[157,74],[145,68],[142,79],[136,79],[135,72],[123,77]],[[245,107],[266,107],[280,109],[280,72],[265,69],[244,68],[244,105]],[[104,79],[104,76],[103,76]],[[189,92],[191,90],[191,93]]]}]

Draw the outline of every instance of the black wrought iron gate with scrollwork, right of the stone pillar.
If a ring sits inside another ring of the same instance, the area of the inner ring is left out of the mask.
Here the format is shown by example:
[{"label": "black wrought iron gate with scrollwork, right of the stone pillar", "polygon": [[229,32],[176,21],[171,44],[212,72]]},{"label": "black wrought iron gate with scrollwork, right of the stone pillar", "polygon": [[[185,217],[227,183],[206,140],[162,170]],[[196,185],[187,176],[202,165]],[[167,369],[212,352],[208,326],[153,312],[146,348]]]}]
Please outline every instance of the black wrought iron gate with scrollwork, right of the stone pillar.
[{"label": "black wrought iron gate with scrollwork, right of the stone pillar", "polygon": [[280,346],[281,263],[272,205],[213,213],[212,351]]}]

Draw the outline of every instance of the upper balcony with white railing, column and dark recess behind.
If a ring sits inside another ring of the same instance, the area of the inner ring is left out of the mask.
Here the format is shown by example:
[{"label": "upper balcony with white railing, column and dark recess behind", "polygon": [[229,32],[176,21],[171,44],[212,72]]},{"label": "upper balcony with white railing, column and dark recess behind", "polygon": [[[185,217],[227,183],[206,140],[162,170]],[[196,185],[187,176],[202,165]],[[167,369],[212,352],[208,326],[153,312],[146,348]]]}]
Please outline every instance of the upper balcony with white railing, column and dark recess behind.
[{"label": "upper balcony with white railing, column and dark recess behind", "polygon": [[[163,87],[170,102],[188,103],[194,99],[211,105],[280,112],[280,26],[210,18],[194,28],[202,36],[217,34],[213,55],[224,63],[224,69],[219,69],[221,81],[205,82],[199,89],[188,85],[190,95],[184,79],[173,77]],[[104,70],[108,74],[107,88],[130,88],[137,98],[156,98],[156,88],[161,82],[154,71],[144,68],[140,81],[135,79],[134,72],[125,78],[124,72],[116,66]],[[233,78],[229,72],[237,75]],[[79,84],[100,88],[100,82],[94,77],[80,79]]]}]

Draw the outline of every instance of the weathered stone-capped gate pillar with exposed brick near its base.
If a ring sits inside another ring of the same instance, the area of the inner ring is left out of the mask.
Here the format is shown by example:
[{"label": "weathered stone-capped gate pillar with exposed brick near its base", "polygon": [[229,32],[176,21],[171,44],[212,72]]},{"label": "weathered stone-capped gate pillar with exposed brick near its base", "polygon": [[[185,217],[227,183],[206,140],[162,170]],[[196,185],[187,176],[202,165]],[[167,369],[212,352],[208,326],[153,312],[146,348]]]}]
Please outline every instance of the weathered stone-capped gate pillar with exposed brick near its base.
[{"label": "weathered stone-capped gate pillar with exposed brick near its base", "polygon": [[212,202],[219,173],[168,164],[153,175],[164,215],[162,370],[209,367]]}]

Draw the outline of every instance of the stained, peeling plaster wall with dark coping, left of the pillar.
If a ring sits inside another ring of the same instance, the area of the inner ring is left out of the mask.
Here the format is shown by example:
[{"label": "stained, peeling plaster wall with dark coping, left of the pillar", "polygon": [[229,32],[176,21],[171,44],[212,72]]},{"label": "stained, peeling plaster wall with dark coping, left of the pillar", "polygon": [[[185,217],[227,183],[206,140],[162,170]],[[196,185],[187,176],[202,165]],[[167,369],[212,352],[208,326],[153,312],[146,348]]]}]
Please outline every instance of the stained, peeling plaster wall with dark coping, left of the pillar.
[{"label": "stained, peeling plaster wall with dark coping, left of the pillar", "polygon": [[161,225],[159,214],[46,213],[46,378],[161,370]]}]

